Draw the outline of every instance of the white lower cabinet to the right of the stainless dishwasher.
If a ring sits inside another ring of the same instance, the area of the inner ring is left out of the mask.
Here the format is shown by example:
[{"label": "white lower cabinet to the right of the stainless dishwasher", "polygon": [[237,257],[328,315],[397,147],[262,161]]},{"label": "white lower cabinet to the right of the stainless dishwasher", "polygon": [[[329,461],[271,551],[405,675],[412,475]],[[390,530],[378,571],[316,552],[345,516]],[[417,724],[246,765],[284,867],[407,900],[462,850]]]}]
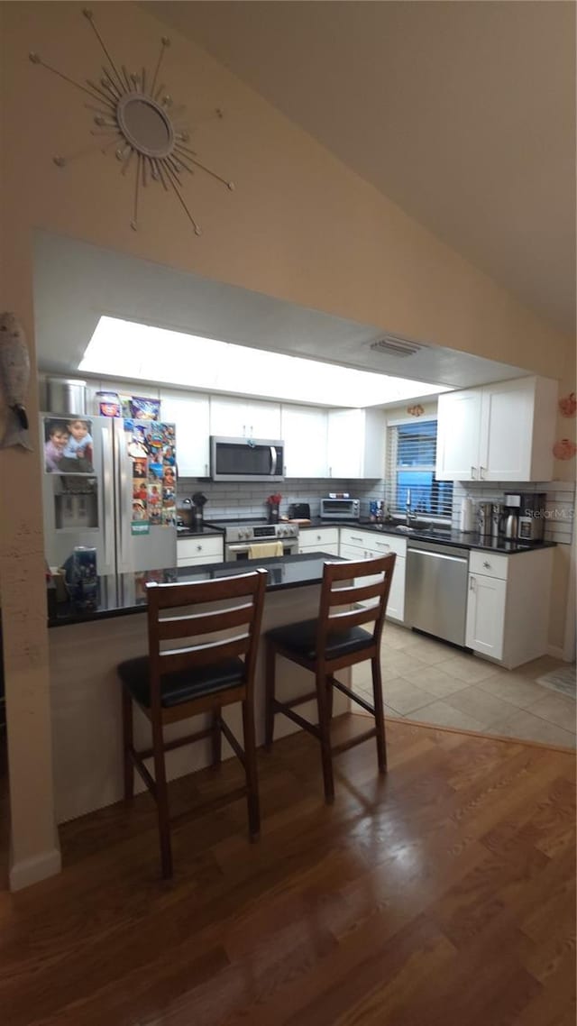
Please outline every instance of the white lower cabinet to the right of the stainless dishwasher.
[{"label": "white lower cabinet to the right of the stainless dishwasher", "polygon": [[507,669],[547,652],[552,548],[471,551],[465,644]]}]

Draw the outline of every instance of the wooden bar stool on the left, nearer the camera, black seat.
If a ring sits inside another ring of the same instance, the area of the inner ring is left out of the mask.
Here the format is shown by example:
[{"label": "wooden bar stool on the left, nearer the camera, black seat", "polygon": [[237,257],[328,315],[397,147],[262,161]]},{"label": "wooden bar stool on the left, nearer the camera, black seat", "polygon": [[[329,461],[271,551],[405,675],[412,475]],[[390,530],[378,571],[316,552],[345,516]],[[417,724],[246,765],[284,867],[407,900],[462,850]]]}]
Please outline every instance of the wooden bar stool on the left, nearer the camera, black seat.
[{"label": "wooden bar stool on the left, nearer the camera, black seat", "polygon": [[[164,877],[172,875],[164,765],[168,749],[210,738],[213,764],[218,764],[224,734],[246,778],[246,786],[231,798],[246,795],[251,839],[259,836],[254,686],[266,579],[266,570],[260,568],[218,581],[147,585],[148,656],[117,667],[122,681],[124,797],[133,795],[137,768],[157,804]],[[219,634],[223,631],[224,637]],[[180,645],[175,647],[177,640]],[[152,748],[145,751],[133,747],[132,702],[151,722]],[[224,706],[235,702],[242,703],[243,748],[221,714]],[[165,723],[199,713],[208,714],[207,726],[164,741]],[[145,765],[149,758],[154,761],[154,777]]]}]

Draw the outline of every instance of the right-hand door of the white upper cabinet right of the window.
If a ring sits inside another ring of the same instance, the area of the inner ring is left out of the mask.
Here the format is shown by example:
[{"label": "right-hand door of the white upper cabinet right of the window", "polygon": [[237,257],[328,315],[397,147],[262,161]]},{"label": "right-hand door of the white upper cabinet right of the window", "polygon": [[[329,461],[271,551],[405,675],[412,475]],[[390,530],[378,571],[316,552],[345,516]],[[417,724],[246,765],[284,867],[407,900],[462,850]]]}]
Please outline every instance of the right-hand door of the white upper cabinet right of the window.
[{"label": "right-hand door of the white upper cabinet right of the window", "polygon": [[531,480],[533,416],[533,378],[484,388],[479,448],[482,480]]}]

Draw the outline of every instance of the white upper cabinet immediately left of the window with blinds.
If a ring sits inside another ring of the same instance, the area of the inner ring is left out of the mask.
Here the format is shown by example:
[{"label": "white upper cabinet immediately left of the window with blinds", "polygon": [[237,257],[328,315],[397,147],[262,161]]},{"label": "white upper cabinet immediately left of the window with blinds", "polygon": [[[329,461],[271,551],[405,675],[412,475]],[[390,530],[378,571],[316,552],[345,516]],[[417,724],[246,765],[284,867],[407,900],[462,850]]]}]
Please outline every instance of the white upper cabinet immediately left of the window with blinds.
[{"label": "white upper cabinet immediately left of the window with blinds", "polygon": [[329,477],[383,477],[385,416],[382,409],[330,409]]}]

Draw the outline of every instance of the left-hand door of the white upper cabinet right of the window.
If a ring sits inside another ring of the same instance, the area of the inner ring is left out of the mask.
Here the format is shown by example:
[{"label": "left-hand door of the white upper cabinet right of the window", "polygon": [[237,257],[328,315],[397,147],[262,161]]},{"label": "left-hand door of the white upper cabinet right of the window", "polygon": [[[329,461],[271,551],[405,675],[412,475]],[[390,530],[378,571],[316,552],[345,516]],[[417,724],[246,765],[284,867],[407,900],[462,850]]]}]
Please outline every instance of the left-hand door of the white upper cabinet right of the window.
[{"label": "left-hand door of the white upper cabinet right of the window", "polygon": [[480,408],[480,389],[439,395],[435,467],[437,480],[478,479]]}]

